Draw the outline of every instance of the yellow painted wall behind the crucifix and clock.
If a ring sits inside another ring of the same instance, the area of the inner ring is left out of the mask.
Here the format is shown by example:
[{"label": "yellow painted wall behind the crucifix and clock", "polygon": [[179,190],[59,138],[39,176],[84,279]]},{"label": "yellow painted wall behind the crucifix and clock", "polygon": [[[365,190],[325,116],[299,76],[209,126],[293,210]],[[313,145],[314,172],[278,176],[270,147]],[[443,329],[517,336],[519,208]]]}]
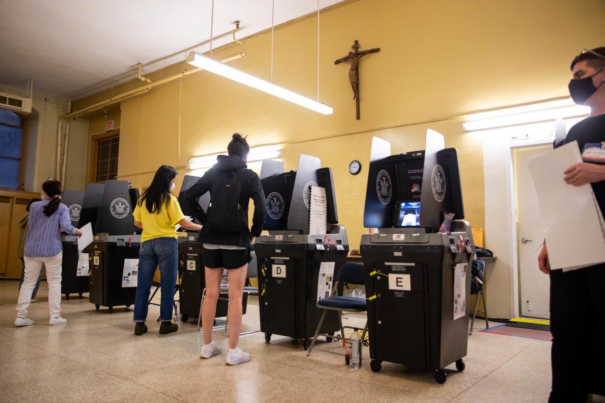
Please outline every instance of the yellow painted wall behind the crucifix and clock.
[{"label": "yellow painted wall behind the crucifix and clock", "polygon": [[[224,151],[233,132],[249,135],[251,146],[285,143],[286,169],[296,169],[299,153],[318,156],[322,166],[332,167],[339,218],[357,247],[365,231],[371,137],[390,141],[393,152],[422,149],[430,127],[445,135],[446,146],[458,149],[466,216],[471,225],[483,228],[482,134],[463,132],[459,116],[566,97],[569,62],[583,47],[603,45],[604,17],[602,0],[581,5],[566,0],[350,2],[321,14],[319,100],[334,108],[333,115],[205,71],[190,74],[121,103],[118,175],[135,187],[148,185],[161,164],[175,166],[183,175],[193,156]],[[316,97],[316,35],[315,18],[275,31],[274,83]],[[381,48],[360,64],[361,120],[355,119],[348,63],[333,63],[355,39],[362,49]],[[270,44],[265,33],[214,57],[244,51],[245,57],[229,64],[269,79]],[[181,68],[147,76],[157,80]],[[129,82],[117,91],[136,86],[140,84]],[[81,100],[76,108],[107,94]],[[355,159],[363,172],[352,176],[347,165]]]}]

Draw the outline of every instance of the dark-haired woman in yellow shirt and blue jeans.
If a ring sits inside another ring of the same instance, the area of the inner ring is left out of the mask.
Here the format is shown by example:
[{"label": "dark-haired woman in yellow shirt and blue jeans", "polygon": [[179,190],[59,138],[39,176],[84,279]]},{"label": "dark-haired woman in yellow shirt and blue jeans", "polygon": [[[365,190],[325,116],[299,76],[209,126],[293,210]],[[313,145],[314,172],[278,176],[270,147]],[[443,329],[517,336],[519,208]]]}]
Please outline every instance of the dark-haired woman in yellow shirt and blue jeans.
[{"label": "dark-haired woman in yellow shirt and blue jeans", "polygon": [[132,215],[134,225],[143,229],[139,250],[139,274],[137,294],[134,297],[134,334],[147,331],[145,320],[151,283],[155,268],[160,266],[160,334],[176,332],[178,324],[172,323],[174,285],[177,282],[178,245],[176,225],[186,230],[201,230],[183,215],[177,198],[172,195],[177,171],[168,165],[156,172],[148,189],[137,201]]}]

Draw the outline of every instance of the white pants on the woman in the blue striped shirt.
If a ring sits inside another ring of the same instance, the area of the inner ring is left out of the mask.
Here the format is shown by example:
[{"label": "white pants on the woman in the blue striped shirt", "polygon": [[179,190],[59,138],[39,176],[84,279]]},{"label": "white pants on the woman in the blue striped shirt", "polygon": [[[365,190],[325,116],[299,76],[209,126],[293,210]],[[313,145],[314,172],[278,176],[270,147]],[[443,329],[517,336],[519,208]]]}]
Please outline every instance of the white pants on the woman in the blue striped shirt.
[{"label": "white pants on the woman in the blue striped shirt", "polygon": [[46,279],[48,282],[48,311],[51,318],[58,318],[61,314],[61,263],[63,262],[63,251],[54,256],[29,257],[25,256],[25,276],[19,300],[17,302],[17,316],[27,317],[27,308],[30,306],[31,293],[36,286],[36,281],[42,264],[46,266]]}]

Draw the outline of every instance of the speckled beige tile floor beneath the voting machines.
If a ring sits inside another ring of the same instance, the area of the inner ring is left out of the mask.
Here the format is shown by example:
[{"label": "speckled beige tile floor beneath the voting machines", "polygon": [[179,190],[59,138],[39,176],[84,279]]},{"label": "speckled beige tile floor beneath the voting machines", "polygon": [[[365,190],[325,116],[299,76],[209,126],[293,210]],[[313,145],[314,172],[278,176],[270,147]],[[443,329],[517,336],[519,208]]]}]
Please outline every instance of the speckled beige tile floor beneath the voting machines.
[{"label": "speckled beige tile floor beneath the voting machines", "polygon": [[[149,332],[134,335],[132,310],[95,311],[86,296],[62,300],[67,324],[48,326],[46,282],[31,305],[36,324],[15,327],[18,282],[0,281],[0,402],[545,402],[551,382],[549,341],[473,332],[466,370],[448,367],[439,385],[428,371],[382,363],[370,370],[364,349],[362,369],[344,365],[342,344],[319,341],[310,357],[301,341],[261,333],[240,339],[252,361],[224,365],[227,337],[214,330],[221,355],[200,359],[195,322],[159,335],[149,309]],[[244,330],[258,329],[258,300],[249,298]],[[345,323],[364,323],[350,315]],[[494,323],[495,324],[495,323]],[[476,321],[475,329],[485,326]]]}]

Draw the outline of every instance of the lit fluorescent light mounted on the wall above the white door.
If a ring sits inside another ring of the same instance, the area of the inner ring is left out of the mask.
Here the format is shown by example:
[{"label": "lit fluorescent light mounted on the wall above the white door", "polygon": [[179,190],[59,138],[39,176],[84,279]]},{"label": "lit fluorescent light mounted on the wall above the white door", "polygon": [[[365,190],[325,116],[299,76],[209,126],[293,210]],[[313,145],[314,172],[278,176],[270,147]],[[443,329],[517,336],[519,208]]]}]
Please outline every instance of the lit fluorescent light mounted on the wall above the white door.
[{"label": "lit fluorescent light mounted on the wall above the white door", "polygon": [[555,120],[555,118],[557,117],[580,117],[588,114],[590,114],[590,108],[588,106],[573,105],[563,106],[561,108],[543,109],[541,111],[532,111],[498,117],[489,117],[479,120],[471,120],[463,123],[462,126],[464,127],[465,131],[468,132],[474,130],[494,129],[495,127],[514,126],[515,124],[528,124],[537,123],[540,121]]}]

